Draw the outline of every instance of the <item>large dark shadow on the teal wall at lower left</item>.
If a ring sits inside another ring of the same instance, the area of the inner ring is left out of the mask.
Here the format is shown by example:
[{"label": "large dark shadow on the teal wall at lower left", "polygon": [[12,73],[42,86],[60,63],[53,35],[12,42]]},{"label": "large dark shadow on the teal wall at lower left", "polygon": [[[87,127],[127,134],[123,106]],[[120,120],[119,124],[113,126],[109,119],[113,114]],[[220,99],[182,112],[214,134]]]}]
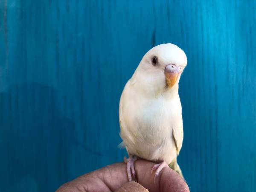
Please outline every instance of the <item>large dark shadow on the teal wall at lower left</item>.
[{"label": "large dark shadow on the teal wall at lower left", "polygon": [[61,115],[55,90],[15,84],[0,93],[2,192],[55,191],[66,178],[74,122]]}]

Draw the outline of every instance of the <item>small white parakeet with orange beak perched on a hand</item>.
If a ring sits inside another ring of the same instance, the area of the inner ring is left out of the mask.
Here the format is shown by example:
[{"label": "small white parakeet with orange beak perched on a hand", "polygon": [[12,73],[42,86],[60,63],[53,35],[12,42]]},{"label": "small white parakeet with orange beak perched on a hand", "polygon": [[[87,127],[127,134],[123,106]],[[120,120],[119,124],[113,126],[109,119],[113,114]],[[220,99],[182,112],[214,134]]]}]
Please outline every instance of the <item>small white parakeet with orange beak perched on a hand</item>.
[{"label": "small white parakeet with orange beak perched on a hand", "polygon": [[144,55],[125,85],[119,122],[122,145],[129,154],[125,160],[129,180],[135,177],[134,161],[138,157],[158,163],[151,171],[155,171],[154,178],[168,165],[182,176],[177,164],[183,142],[178,83],[186,64],[182,49],[160,44]]}]

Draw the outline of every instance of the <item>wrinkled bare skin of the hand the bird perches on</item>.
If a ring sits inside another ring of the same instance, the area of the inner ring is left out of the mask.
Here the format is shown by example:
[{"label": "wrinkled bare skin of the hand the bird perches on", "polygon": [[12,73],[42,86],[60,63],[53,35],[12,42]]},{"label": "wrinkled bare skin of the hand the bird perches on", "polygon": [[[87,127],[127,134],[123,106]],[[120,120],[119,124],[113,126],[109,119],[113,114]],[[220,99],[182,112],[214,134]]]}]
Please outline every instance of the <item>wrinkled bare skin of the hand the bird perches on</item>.
[{"label": "wrinkled bare skin of the hand the bird perches on", "polygon": [[137,182],[128,182],[126,164],[115,163],[82,175],[62,185],[57,192],[189,192],[186,182],[172,169],[165,167],[154,183],[151,169],[155,164],[135,162]]}]

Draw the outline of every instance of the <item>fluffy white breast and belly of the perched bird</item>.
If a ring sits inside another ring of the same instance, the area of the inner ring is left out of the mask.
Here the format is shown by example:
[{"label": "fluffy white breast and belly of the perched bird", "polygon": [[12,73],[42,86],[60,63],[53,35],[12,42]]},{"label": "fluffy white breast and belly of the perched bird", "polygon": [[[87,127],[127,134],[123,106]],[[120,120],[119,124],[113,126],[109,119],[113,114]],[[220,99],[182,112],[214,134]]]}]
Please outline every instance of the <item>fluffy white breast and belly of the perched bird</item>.
[{"label": "fluffy white breast and belly of the perched bird", "polygon": [[129,154],[171,163],[177,156],[172,128],[180,116],[178,94],[172,99],[164,95],[147,98],[124,90],[120,101],[120,135]]}]

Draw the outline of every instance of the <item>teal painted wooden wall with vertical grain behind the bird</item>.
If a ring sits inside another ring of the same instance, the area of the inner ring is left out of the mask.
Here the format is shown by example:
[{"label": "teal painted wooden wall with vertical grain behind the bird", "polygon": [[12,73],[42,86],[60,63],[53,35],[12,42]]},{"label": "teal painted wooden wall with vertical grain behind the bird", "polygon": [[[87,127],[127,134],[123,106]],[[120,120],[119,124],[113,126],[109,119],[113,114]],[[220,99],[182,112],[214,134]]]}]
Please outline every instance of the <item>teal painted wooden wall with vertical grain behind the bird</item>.
[{"label": "teal painted wooden wall with vertical grain behind the bird", "polygon": [[178,161],[192,192],[256,192],[256,1],[0,0],[0,191],[122,161],[118,105],[145,52],[187,54]]}]

